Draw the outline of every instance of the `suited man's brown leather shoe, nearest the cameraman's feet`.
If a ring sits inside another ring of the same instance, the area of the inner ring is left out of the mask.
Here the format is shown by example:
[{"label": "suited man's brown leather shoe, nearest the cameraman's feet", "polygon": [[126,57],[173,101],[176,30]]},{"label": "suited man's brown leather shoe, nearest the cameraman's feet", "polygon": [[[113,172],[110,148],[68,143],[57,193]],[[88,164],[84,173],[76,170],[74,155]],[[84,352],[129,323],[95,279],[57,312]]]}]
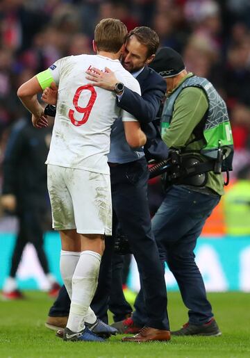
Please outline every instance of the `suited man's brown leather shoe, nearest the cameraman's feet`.
[{"label": "suited man's brown leather shoe, nearest the cameraman's feet", "polygon": [[123,342],[149,342],[149,341],[169,341],[170,331],[143,327],[135,336],[122,337]]}]

